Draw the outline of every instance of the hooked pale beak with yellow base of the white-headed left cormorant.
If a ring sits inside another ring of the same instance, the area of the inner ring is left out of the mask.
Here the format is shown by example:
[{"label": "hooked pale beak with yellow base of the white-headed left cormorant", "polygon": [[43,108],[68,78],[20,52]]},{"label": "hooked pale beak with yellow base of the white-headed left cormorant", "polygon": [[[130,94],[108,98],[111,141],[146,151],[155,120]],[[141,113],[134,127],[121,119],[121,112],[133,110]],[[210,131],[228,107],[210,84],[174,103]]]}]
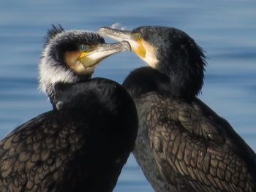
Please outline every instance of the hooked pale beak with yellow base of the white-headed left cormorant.
[{"label": "hooked pale beak with yellow base of the white-headed left cormorant", "polygon": [[82,62],[84,67],[91,67],[99,64],[100,61],[118,52],[131,50],[128,42],[116,42],[110,44],[97,45],[94,50],[81,53],[78,60]]}]

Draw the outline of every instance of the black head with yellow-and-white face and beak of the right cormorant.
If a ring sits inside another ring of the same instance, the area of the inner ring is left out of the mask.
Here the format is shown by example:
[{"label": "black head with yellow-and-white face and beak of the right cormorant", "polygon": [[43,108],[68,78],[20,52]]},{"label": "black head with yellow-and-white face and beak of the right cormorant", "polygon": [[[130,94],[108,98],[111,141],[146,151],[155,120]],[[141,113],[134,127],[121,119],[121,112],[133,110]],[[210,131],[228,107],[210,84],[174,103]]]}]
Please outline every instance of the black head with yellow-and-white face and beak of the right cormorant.
[{"label": "black head with yellow-and-white face and beak of the right cormorant", "polygon": [[195,96],[200,92],[205,55],[184,31],[165,26],[140,26],[132,31],[102,27],[98,33],[129,42],[132,50],[146,64],[167,75],[172,87],[179,88],[181,94]]}]

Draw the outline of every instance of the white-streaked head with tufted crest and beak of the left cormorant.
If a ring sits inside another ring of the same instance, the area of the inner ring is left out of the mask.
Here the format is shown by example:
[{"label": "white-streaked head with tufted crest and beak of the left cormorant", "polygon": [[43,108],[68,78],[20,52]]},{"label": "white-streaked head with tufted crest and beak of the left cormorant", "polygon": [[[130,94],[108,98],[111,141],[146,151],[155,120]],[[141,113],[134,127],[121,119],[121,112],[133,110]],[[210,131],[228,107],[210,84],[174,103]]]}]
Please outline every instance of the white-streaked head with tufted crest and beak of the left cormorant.
[{"label": "white-streaked head with tufted crest and beak of the left cormorant", "polygon": [[128,42],[106,44],[95,32],[53,26],[39,64],[39,88],[49,95],[57,82],[86,80],[100,61],[124,50],[130,50]]}]

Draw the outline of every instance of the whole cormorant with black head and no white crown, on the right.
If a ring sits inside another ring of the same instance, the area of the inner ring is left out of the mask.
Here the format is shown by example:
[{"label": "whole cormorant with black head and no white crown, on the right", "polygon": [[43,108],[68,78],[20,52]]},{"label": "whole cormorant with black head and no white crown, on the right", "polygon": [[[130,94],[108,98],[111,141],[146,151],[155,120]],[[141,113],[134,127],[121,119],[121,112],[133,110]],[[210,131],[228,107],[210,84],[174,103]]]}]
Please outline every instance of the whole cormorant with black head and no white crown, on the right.
[{"label": "whole cormorant with black head and no white crown, on the right", "polygon": [[138,110],[135,158],[155,191],[256,191],[256,155],[227,121],[197,94],[205,56],[176,28],[100,28],[127,40],[151,67],[135,69],[123,85]]}]

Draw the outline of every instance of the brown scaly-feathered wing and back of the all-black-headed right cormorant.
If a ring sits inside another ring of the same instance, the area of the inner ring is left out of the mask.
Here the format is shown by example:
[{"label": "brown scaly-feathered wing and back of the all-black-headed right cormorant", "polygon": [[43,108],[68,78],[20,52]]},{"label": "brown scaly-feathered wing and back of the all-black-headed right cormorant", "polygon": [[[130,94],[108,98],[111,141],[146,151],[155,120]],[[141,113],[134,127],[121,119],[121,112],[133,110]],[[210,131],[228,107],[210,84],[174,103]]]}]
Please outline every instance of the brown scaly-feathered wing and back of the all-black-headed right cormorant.
[{"label": "brown scaly-feathered wing and back of the all-black-headed right cormorant", "polygon": [[[170,183],[180,182],[177,185],[181,188],[189,183],[187,188],[195,191],[256,190],[255,172],[249,170],[236,149],[237,141],[230,137],[235,131],[216,113],[201,101],[187,104],[157,93],[143,99],[151,147]],[[244,146],[248,147],[245,142],[240,147]],[[244,153],[253,153],[246,147]]]}]

